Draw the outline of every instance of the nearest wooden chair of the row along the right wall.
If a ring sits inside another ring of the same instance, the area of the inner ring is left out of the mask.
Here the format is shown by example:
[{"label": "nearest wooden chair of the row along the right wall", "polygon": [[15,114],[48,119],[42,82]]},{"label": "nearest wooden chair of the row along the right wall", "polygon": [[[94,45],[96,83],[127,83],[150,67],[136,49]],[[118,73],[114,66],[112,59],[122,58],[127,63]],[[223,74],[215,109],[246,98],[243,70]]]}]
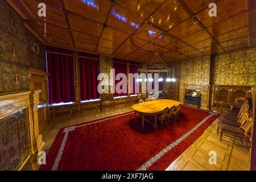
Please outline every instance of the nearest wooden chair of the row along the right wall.
[{"label": "nearest wooden chair of the row along the right wall", "polygon": [[240,127],[234,127],[226,125],[224,123],[218,123],[217,130],[221,130],[220,141],[222,140],[223,134],[229,134],[233,135],[234,137],[240,137],[242,143],[243,139],[245,140],[247,150],[249,150],[247,143],[247,134],[249,133],[251,126],[253,126],[253,118],[247,118]]}]

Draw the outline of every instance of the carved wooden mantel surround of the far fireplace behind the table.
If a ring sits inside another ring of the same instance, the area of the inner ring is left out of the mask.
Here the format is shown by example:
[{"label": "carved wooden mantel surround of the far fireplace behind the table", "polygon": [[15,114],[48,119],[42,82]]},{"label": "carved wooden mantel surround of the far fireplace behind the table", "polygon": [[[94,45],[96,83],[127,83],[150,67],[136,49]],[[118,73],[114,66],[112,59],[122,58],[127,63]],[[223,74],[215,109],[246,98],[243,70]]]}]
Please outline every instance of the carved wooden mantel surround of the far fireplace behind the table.
[{"label": "carved wooden mantel surround of the far fireplace behind the table", "polygon": [[209,85],[180,84],[180,102],[184,103],[185,90],[201,90],[201,109],[209,109]]}]

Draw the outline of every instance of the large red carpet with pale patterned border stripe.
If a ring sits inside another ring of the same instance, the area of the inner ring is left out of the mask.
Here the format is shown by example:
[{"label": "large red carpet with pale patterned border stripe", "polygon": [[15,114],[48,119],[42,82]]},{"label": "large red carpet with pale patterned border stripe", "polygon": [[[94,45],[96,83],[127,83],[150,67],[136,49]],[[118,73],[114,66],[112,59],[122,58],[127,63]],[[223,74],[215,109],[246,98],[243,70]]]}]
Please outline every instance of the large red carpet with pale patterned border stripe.
[{"label": "large red carpet with pale patterned border stripe", "polygon": [[164,170],[218,114],[181,106],[180,116],[180,122],[157,130],[147,122],[142,129],[134,113],[66,127],[40,170]]}]

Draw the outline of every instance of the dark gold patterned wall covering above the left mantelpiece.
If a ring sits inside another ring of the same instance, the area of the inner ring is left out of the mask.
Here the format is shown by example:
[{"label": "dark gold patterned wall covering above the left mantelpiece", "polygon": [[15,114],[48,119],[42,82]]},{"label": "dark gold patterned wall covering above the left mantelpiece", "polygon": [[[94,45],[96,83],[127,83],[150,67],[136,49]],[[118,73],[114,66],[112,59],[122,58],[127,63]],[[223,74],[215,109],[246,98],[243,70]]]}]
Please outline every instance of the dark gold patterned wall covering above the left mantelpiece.
[{"label": "dark gold patterned wall covering above the left mantelpiece", "polygon": [[[32,52],[34,43],[39,46],[39,54]],[[0,93],[29,89],[28,68],[46,71],[45,47],[24,27],[23,19],[7,2],[0,1]]]}]

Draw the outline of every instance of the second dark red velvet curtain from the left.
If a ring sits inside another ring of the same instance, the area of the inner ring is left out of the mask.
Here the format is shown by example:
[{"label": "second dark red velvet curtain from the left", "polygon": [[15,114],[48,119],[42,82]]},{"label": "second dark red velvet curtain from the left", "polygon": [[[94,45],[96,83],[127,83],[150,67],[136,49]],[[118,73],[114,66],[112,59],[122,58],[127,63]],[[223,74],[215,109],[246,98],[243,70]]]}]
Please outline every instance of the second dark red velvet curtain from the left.
[{"label": "second dark red velvet curtain from the left", "polygon": [[99,83],[97,77],[100,74],[100,61],[97,59],[79,57],[79,67],[81,100],[86,101],[100,98],[100,94],[97,91]]}]

